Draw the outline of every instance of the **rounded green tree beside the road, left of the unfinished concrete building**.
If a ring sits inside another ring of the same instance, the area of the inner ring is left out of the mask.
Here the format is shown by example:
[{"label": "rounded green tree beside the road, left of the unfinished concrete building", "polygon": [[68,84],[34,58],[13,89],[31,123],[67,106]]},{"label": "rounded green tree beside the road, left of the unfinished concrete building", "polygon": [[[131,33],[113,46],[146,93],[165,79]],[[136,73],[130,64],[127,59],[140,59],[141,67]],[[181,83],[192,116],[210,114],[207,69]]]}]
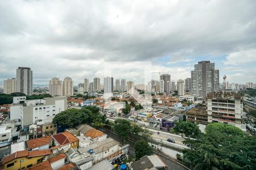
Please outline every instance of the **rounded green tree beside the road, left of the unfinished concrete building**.
[{"label": "rounded green tree beside the road, left of the unfinished concrete building", "polygon": [[201,134],[197,124],[192,122],[175,122],[172,132],[184,134],[186,137],[198,138]]}]

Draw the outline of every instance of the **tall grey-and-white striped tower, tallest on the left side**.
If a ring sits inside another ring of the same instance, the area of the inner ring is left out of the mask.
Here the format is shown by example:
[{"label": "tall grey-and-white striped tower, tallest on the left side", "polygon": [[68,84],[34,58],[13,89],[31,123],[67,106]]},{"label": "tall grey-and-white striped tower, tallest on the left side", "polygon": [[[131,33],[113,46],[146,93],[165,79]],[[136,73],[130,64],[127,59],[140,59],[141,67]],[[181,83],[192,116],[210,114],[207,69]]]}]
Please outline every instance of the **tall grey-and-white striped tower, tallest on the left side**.
[{"label": "tall grey-and-white striped tower, tallest on the left side", "polygon": [[25,95],[33,93],[33,72],[28,67],[18,67],[16,70],[16,91]]}]

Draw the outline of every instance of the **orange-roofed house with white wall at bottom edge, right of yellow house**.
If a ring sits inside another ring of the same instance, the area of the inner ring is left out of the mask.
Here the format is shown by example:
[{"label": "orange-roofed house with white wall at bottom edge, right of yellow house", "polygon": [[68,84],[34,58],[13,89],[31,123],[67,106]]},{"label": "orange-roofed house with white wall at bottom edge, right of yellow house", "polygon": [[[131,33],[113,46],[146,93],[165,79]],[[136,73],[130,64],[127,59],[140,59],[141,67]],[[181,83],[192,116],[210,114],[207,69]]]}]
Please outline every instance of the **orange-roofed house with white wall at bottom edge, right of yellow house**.
[{"label": "orange-roofed house with white wall at bottom edge, right of yellow house", "polygon": [[56,169],[72,169],[73,164],[69,163],[65,165],[65,158],[66,155],[61,153],[58,155],[53,155],[52,158],[47,159],[46,161],[37,164],[31,168],[30,170],[41,170],[41,169],[46,169],[46,170],[56,170]]}]

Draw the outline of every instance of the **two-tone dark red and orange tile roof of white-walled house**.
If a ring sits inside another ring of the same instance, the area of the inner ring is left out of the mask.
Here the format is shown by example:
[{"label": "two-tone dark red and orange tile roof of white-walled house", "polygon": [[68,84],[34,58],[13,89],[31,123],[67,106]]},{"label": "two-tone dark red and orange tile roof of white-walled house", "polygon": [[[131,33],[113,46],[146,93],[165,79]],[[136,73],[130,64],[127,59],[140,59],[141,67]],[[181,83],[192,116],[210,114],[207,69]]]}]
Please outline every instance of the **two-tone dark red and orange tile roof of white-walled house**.
[{"label": "two-tone dark red and orange tile roof of white-walled house", "polygon": [[57,143],[59,143],[60,146],[79,141],[79,139],[77,139],[74,135],[69,133],[69,131],[64,131],[63,133],[58,133],[58,134],[52,135],[52,138]]}]

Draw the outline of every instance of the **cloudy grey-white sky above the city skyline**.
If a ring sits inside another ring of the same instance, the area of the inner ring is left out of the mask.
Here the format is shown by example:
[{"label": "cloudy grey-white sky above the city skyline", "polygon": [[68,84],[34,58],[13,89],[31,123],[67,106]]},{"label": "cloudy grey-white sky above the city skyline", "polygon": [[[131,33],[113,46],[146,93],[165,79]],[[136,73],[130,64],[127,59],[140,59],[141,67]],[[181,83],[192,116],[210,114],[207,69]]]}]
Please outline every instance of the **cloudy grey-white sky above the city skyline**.
[{"label": "cloudy grey-white sky above the city skyline", "polygon": [[150,63],[153,79],[176,81],[203,60],[215,63],[220,83],[224,74],[256,83],[255,9],[254,0],[2,0],[0,84],[30,67],[34,84],[69,76],[77,85],[103,78],[105,62],[121,65],[114,78],[141,83]]}]

